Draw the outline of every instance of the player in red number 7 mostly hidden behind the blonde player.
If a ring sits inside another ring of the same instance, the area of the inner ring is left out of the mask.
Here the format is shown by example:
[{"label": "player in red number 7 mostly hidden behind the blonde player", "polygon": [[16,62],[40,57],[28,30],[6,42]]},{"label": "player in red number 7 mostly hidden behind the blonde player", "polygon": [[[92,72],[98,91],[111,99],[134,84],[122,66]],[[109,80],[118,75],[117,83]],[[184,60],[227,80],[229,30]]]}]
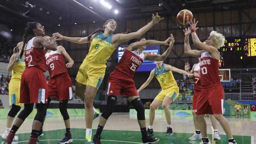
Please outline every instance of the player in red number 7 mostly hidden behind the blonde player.
[{"label": "player in red number 7 mostly hidden behind the blonde player", "polygon": [[[184,47],[185,47],[185,52],[184,52],[185,54],[188,50],[191,50],[188,39],[185,39]],[[194,96],[193,96],[193,102],[192,102],[192,114],[193,114],[193,122],[195,125],[195,133],[193,134],[192,137],[188,138],[189,140],[198,140],[202,138],[201,132],[198,128],[196,115],[195,115],[197,99],[198,99],[198,96],[200,96],[200,91],[202,90],[202,86],[200,84],[200,58],[198,59],[199,59],[199,63],[194,64],[190,72],[188,71],[190,68],[189,63],[185,64],[185,70],[191,74],[194,74]],[[214,140],[221,140],[221,137],[219,136],[219,132],[218,132],[217,120],[214,118],[212,114],[209,114],[209,116],[211,119],[211,125],[213,127],[213,131],[214,131]]]}]

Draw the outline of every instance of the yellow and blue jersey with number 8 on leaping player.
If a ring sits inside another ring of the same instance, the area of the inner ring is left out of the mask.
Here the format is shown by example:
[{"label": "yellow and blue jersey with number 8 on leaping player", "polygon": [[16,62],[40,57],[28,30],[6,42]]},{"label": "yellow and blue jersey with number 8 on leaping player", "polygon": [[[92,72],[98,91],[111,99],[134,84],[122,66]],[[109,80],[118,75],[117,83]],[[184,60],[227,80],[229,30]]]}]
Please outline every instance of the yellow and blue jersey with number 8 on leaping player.
[{"label": "yellow and blue jersey with number 8 on leaping player", "polygon": [[113,34],[104,36],[102,32],[96,33],[85,59],[96,64],[107,63],[108,58],[115,50],[112,44],[112,37]]}]

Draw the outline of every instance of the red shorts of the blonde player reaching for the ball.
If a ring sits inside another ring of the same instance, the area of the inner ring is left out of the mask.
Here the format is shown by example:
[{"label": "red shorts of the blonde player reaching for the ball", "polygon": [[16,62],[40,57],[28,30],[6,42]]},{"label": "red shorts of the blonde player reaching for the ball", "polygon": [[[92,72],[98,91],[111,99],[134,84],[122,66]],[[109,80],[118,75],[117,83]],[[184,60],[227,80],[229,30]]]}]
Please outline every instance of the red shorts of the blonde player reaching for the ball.
[{"label": "red shorts of the blonde player reaching for the ball", "polygon": [[223,103],[222,85],[202,89],[197,99],[196,114],[223,114]]}]

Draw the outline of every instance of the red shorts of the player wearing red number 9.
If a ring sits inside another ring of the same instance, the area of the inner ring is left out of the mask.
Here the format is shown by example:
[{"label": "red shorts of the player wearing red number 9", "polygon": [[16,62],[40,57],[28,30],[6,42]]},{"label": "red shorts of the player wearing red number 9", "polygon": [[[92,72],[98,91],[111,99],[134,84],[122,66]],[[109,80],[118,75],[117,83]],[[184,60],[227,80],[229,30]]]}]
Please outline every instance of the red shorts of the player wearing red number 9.
[{"label": "red shorts of the player wearing red number 9", "polygon": [[50,78],[47,84],[48,97],[69,100],[73,97],[72,82],[68,73]]}]

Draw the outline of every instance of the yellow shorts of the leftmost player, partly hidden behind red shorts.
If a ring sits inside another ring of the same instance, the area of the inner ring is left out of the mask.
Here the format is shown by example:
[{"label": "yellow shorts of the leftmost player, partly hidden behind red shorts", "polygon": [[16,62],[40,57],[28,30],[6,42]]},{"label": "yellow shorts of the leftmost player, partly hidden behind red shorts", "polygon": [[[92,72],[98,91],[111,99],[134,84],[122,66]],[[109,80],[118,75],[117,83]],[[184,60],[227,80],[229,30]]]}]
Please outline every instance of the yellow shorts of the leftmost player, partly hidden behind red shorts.
[{"label": "yellow shorts of the leftmost player, partly hidden behind red shorts", "polygon": [[11,79],[9,83],[9,105],[13,104],[23,107],[20,103],[20,79]]}]

